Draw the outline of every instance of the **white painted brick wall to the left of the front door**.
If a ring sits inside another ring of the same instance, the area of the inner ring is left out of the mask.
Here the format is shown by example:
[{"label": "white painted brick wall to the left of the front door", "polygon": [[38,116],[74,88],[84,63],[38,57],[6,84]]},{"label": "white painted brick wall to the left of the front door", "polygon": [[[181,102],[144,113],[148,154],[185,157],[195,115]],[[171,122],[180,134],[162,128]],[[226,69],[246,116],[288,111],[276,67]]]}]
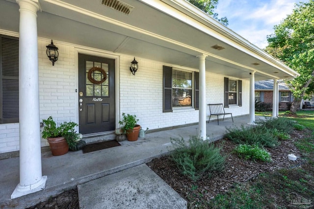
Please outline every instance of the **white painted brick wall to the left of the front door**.
[{"label": "white painted brick wall to the left of the front door", "polygon": [[[75,50],[74,46],[53,42],[59,48],[58,61],[52,62],[46,55],[50,40],[38,39],[39,108],[40,119],[52,116],[57,122],[75,121]],[[41,139],[41,146],[48,146]],[[0,153],[19,150],[19,123],[0,124]]]}]

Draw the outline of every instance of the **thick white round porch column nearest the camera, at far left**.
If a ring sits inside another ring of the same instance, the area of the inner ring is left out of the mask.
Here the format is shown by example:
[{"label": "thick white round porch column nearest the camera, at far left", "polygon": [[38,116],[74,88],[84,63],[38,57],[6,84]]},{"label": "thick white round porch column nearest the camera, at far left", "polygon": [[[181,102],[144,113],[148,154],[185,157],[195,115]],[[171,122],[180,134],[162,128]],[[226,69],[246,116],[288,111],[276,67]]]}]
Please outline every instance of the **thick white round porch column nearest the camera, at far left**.
[{"label": "thick white round porch column nearest the camera, at far left", "polygon": [[16,0],[20,6],[19,122],[20,183],[11,199],[45,188],[40,149],[37,11],[33,0]]}]

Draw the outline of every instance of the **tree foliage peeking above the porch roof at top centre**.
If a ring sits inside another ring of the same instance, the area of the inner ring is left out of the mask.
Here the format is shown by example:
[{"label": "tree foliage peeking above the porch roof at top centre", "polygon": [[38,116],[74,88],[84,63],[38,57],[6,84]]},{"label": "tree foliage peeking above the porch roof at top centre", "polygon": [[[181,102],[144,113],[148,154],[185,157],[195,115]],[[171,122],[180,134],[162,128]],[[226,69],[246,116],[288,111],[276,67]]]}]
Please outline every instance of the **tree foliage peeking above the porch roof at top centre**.
[{"label": "tree foliage peeking above the porch roof at top centre", "polygon": [[226,17],[218,19],[218,14],[214,13],[213,10],[217,8],[218,0],[188,0],[191,4],[213,17],[220,23],[228,26],[228,19]]}]

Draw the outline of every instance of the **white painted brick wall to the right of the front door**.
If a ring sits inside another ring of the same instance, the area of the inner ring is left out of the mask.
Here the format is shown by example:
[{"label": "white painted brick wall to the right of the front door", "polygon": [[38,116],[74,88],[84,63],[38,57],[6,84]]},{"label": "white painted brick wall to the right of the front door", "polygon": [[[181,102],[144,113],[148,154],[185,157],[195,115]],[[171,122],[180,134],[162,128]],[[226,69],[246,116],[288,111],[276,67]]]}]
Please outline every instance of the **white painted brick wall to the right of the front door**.
[{"label": "white painted brick wall to the right of the front door", "polygon": [[[120,58],[121,115],[122,113],[136,115],[144,129],[198,122],[199,111],[193,108],[173,108],[172,113],[162,113],[162,66],[171,65],[136,58],[140,67],[133,76],[129,70],[131,59],[132,57],[123,56]],[[176,69],[180,70],[179,67]],[[223,75],[206,72],[206,89],[206,104],[224,102]],[[249,80],[242,80],[242,92],[242,107],[228,109],[234,116],[249,114]],[[209,115],[209,108],[206,108]]]}]

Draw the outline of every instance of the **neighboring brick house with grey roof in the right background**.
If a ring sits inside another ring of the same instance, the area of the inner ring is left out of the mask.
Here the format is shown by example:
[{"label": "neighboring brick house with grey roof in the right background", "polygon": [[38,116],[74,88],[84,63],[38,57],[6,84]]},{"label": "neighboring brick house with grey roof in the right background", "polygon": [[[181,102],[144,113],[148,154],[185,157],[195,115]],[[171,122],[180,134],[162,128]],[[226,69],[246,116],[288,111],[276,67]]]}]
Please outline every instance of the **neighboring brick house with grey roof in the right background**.
[{"label": "neighboring brick house with grey roof in the right background", "polygon": [[[288,86],[280,82],[278,83],[279,94],[279,109],[286,110],[287,103],[293,101],[292,93],[290,92]],[[255,101],[262,101],[265,103],[273,103],[273,90],[274,90],[274,81],[265,80],[265,81],[255,81]]]}]

